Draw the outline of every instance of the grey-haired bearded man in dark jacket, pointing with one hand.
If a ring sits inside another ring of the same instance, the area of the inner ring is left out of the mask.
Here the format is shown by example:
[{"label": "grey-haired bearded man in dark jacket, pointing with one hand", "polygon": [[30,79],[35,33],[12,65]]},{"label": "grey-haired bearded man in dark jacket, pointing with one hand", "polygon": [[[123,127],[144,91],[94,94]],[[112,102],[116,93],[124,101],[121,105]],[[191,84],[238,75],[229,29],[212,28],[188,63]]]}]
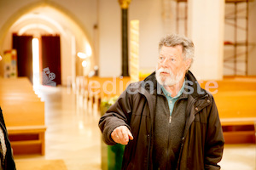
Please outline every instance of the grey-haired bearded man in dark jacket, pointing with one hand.
[{"label": "grey-haired bearded man in dark jacket, pointing with one hand", "polygon": [[159,43],[157,70],[131,83],[100,119],[106,144],[126,144],[122,169],[220,169],[224,136],[211,94],[189,71],[194,44]]}]

